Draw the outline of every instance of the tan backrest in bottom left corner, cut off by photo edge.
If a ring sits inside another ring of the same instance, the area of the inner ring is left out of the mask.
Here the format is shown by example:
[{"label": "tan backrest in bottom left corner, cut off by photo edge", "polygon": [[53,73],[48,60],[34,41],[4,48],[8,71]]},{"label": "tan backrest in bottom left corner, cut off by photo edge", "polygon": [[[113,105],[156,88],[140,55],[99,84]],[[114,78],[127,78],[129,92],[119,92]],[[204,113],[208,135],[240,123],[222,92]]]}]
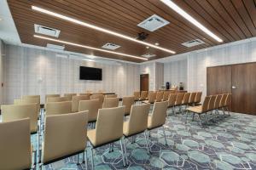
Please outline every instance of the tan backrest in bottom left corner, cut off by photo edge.
[{"label": "tan backrest in bottom left corner, cut off by photo edge", "polygon": [[29,118],[0,122],[1,169],[30,169],[32,152]]}]

